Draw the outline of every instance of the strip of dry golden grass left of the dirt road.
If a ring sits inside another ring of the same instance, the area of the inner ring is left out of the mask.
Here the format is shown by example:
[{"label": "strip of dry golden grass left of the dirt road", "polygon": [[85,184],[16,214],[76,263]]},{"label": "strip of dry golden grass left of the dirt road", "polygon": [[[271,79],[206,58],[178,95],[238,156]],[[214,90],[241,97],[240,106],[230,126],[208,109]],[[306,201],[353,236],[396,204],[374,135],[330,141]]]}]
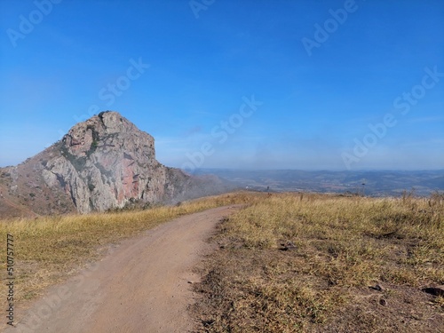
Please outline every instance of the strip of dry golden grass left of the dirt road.
[{"label": "strip of dry golden grass left of the dirt road", "polygon": [[[109,244],[139,234],[178,216],[232,203],[258,200],[258,195],[223,194],[150,210],[96,213],[0,221],[4,247],[0,253],[2,280],[6,277],[6,234],[14,237],[15,299],[40,295],[99,258]],[[6,294],[2,283],[2,295]]]}]

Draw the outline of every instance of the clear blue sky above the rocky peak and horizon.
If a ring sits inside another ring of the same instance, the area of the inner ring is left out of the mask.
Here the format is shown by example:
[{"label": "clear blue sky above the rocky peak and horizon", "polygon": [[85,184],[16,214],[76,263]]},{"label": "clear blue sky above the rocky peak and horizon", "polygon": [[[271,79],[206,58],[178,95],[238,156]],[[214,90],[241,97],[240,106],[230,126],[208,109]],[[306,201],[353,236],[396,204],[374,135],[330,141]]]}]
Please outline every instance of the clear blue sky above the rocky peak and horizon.
[{"label": "clear blue sky above the rocky peak and horizon", "polygon": [[0,0],[0,166],[102,110],[169,166],[444,169],[442,0]]}]

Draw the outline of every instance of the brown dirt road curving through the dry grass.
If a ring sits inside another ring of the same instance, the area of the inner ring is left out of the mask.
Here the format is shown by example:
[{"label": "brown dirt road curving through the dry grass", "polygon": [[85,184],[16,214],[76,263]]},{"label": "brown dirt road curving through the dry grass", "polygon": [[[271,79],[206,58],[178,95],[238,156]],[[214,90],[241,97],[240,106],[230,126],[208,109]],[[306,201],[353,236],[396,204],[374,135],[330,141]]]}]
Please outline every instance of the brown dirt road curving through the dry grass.
[{"label": "brown dirt road curving through the dry grass", "polygon": [[[239,206],[176,218],[122,242],[20,317],[7,332],[187,332],[194,303],[192,268],[210,251],[205,242],[221,218]],[[25,315],[23,315],[25,314]]]}]

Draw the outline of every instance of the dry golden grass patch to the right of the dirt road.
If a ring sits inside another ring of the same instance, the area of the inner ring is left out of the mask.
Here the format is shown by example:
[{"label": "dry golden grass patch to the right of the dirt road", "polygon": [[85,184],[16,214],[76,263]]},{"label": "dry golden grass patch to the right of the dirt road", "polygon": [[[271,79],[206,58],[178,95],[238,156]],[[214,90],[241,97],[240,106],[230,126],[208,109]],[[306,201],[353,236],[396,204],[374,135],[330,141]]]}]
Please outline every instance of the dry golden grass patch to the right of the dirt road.
[{"label": "dry golden grass patch to the right of the dirt road", "polygon": [[273,194],[215,242],[196,286],[202,331],[444,331],[442,297],[421,291],[444,284],[440,195]]}]

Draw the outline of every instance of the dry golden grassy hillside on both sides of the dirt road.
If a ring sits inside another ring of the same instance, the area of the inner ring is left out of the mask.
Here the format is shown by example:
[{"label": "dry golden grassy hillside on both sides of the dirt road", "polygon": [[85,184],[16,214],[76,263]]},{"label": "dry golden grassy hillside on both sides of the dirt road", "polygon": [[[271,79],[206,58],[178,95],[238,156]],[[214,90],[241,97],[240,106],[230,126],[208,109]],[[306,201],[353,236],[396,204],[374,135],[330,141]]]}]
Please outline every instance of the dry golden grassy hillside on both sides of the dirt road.
[{"label": "dry golden grassy hillside on both sides of the dirt road", "polygon": [[[26,304],[171,218],[226,204],[194,305],[208,332],[444,331],[444,198],[224,194],[174,207],[0,221],[14,236],[17,301]],[[5,249],[0,253],[6,277]],[[6,295],[5,283],[1,292]]]}]

